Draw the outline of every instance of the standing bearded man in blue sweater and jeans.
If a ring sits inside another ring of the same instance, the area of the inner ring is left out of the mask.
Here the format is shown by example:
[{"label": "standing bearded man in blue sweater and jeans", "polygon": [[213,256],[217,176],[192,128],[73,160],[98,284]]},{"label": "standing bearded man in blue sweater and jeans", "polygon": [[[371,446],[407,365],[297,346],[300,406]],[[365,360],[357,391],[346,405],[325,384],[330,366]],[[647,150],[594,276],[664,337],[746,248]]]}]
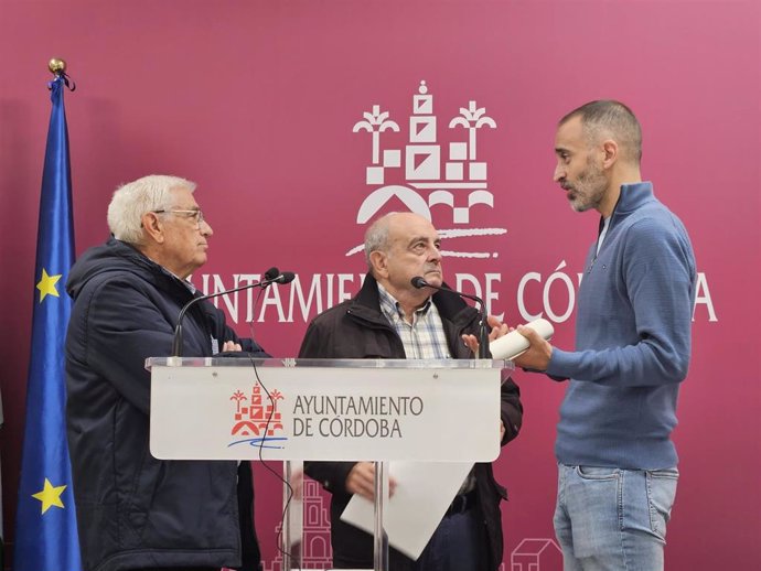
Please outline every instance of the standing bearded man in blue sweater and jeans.
[{"label": "standing bearded man in blue sweater and jeans", "polygon": [[565,571],[663,569],[676,495],[679,383],[690,355],[695,258],[682,222],[642,182],[642,134],[619,101],[558,123],[555,181],[576,212],[600,213],[578,293],[576,351],[519,326],[515,359],[570,379],[555,453],[555,531]]}]

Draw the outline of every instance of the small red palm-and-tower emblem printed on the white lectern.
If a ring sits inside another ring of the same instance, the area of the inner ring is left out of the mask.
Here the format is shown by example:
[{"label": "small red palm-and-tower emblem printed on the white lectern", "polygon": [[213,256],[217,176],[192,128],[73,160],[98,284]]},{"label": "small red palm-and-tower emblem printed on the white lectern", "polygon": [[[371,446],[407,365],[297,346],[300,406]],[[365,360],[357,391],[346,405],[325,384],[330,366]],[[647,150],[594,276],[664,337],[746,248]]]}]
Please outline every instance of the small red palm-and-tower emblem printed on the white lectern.
[{"label": "small red palm-and-tower emblem printed on the white lectern", "polygon": [[249,397],[240,389],[233,392],[229,400],[235,401],[235,412],[231,429],[233,439],[228,448],[238,444],[267,449],[285,448],[282,444],[288,438],[285,435],[282,417],[278,410],[278,401],[285,398],[277,389],[262,390],[259,383],[254,385]]}]

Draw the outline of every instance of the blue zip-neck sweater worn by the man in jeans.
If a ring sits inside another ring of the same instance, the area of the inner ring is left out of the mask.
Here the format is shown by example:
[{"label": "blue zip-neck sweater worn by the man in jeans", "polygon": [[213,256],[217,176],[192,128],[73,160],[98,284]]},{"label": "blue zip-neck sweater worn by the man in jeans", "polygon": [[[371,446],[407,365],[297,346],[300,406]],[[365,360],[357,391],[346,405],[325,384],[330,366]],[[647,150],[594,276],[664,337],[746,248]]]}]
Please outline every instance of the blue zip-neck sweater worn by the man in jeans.
[{"label": "blue zip-neck sweater worn by the man in jeans", "polygon": [[695,257],[682,222],[649,182],[625,184],[579,287],[576,351],[553,348],[547,374],[570,378],[555,453],[569,465],[675,466],[671,432],[686,377]]}]

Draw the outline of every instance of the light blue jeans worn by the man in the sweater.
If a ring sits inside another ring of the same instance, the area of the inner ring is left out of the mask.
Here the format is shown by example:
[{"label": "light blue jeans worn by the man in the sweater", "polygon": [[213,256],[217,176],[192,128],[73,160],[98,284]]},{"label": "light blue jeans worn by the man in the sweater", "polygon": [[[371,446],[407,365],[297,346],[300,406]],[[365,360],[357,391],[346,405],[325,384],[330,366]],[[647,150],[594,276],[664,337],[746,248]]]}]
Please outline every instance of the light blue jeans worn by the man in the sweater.
[{"label": "light blue jeans worn by the man in the sweater", "polygon": [[564,571],[660,571],[678,471],[558,464]]}]

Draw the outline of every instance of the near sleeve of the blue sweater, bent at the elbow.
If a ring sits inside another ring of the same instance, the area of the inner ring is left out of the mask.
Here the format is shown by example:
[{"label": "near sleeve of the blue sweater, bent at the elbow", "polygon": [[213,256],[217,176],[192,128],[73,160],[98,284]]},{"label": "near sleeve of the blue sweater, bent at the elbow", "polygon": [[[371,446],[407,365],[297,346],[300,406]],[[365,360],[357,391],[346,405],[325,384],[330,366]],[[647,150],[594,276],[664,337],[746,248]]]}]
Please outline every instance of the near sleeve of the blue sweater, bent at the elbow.
[{"label": "near sleeve of the blue sweater, bent at the elbow", "polygon": [[688,238],[674,220],[664,225],[643,218],[629,229],[622,255],[637,341],[600,351],[554,347],[547,374],[630,387],[679,383],[686,377],[695,295]]}]

